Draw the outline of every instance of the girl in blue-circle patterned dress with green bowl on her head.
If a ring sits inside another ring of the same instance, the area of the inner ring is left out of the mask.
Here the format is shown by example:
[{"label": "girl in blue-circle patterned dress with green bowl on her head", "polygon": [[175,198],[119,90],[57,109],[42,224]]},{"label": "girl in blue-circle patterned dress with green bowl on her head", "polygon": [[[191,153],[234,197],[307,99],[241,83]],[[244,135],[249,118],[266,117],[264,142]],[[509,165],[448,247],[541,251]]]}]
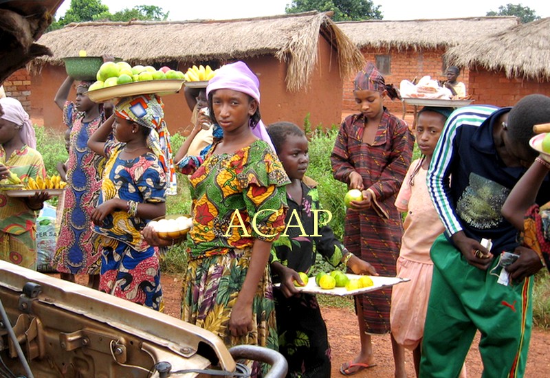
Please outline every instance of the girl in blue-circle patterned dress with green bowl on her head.
[{"label": "girl in blue-circle patterned dress with green bowl on her head", "polygon": [[98,289],[100,245],[92,232],[91,212],[98,203],[104,158],[88,148],[89,137],[105,121],[102,104],[92,102],[86,92],[91,82],[78,82],[75,102],[67,102],[74,80],[67,76],[56,93],[55,102],[63,110],[69,127],[69,159],[66,166],[67,189],[58,234],[54,267],[63,280],[74,282],[75,274],[88,275],[88,286]]}]

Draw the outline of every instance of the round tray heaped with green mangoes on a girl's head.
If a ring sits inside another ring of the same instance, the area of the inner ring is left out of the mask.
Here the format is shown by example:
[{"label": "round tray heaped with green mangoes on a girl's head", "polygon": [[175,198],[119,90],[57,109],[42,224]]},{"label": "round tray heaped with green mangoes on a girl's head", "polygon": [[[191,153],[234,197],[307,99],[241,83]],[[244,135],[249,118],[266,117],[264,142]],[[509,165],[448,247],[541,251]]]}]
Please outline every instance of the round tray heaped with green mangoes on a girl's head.
[{"label": "round tray heaped with green mangoes on a girl's head", "polygon": [[183,72],[170,67],[132,67],[124,61],[103,63],[97,71],[96,79],[87,92],[94,102],[149,93],[157,93],[159,96],[177,93],[185,80]]}]

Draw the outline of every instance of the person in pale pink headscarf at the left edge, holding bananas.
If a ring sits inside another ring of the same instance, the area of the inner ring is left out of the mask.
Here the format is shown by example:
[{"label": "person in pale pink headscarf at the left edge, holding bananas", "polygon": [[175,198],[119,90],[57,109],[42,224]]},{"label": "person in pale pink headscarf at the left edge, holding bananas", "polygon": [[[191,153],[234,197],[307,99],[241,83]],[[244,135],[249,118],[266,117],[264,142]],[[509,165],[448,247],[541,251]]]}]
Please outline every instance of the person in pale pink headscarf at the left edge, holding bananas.
[{"label": "person in pale pink headscarf at the left edge, holding bananas", "polygon": [[[15,173],[21,180],[45,177],[42,155],[36,151],[29,115],[15,98],[0,98],[0,180]],[[9,197],[0,186],[0,259],[36,270],[37,211],[45,194]]]}]

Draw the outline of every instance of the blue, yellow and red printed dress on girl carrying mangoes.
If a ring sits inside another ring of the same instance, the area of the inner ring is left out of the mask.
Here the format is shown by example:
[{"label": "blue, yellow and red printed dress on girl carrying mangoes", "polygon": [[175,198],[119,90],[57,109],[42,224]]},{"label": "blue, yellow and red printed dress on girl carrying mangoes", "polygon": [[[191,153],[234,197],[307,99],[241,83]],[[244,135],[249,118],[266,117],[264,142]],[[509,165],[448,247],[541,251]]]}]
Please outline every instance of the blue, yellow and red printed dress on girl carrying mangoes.
[{"label": "blue, yellow and red printed dress on girl carrying mangoes", "polygon": [[[108,161],[99,204],[120,198],[138,203],[166,200],[166,175],[157,156],[151,152],[124,160],[122,143],[107,143]],[[101,237],[100,291],[111,293],[151,309],[162,311],[162,289],[157,247],[148,245],[140,233],[147,219],[126,211],[109,214],[94,231]]]}]

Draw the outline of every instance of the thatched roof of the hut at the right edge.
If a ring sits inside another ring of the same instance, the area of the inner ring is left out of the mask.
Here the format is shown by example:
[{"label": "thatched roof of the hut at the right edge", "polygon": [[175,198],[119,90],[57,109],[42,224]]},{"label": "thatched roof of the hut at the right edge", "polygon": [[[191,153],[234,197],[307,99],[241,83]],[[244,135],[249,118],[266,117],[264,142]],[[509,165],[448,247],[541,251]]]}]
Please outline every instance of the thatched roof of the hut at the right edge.
[{"label": "thatched roof of the hut at the right edge", "polygon": [[449,49],[452,64],[503,70],[508,78],[550,80],[550,18],[516,25]]}]

